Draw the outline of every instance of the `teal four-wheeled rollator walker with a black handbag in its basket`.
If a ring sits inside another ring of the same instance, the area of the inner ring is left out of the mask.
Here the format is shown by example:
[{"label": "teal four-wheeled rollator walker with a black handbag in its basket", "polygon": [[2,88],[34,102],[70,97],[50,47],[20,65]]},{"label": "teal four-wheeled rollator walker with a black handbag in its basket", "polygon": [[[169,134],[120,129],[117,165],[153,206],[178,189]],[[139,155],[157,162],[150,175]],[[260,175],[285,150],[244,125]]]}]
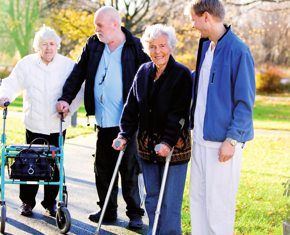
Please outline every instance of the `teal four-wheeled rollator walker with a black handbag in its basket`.
[{"label": "teal four-wheeled rollator walker with a black handbag in its basket", "polygon": [[[8,106],[10,102],[5,102]],[[63,113],[61,113],[59,124],[59,147],[42,144],[10,144],[6,145],[6,116],[7,108],[3,110],[3,132],[1,135],[1,199],[0,199],[0,232],[4,234],[6,222],[6,204],[4,199],[5,184],[41,184],[58,185],[59,201],[55,217],[56,226],[60,233],[66,234],[70,230],[71,217],[67,207],[67,191],[64,179],[64,137],[62,136]],[[37,138],[39,139],[39,138]],[[41,138],[42,139],[42,138]],[[21,155],[22,154],[22,155]],[[10,160],[10,164],[9,164]],[[12,161],[14,161],[12,163]],[[4,166],[7,163],[10,180],[4,179]],[[53,165],[53,166],[52,166]],[[29,167],[29,168],[26,168]],[[52,181],[54,169],[59,169],[59,182]],[[24,171],[23,169],[26,168]],[[43,170],[43,169],[46,170]],[[26,181],[24,181],[26,180]]]}]

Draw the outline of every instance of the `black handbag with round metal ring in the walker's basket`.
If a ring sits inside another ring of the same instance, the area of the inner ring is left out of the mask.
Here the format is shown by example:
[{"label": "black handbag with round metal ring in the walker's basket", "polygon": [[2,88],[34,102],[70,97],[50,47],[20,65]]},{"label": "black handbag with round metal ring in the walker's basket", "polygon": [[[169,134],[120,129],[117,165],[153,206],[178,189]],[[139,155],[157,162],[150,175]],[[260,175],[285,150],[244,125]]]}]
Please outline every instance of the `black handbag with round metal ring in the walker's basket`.
[{"label": "black handbag with round metal ring in the walker's basket", "polygon": [[14,162],[10,166],[10,179],[21,179],[26,181],[52,180],[54,165],[52,167],[48,160],[51,163],[51,161],[55,161],[55,158],[48,157],[49,144],[45,139],[44,140],[48,144],[47,155],[31,149],[32,143],[37,139],[31,142],[29,148],[20,150],[18,155],[14,158]]}]

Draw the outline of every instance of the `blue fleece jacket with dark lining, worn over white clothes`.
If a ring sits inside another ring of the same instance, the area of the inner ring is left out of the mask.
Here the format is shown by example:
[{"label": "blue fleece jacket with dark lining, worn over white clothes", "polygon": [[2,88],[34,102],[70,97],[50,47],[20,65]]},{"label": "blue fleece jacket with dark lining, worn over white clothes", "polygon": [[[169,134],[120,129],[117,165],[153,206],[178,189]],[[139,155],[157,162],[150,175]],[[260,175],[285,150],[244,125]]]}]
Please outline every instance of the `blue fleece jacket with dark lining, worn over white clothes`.
[{"label": "blue fleece jacket with dark lining, worn over white clothes", "polygon": [[[226,137],[245,142],[253,139],[255,64],[247,45],[226,26],[213,55],[209,77],[203,139],[224,142]],[[197,99],[200,69],[211,41],[201,38],[194,75],[191,129]]]}]

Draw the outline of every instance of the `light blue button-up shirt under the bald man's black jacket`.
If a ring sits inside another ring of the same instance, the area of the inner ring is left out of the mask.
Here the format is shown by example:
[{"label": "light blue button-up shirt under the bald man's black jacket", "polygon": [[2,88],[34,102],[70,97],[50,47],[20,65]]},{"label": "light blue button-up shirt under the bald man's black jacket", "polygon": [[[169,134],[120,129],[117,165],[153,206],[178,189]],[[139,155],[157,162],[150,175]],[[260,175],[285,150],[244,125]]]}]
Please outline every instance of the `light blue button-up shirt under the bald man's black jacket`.
[{"label": "light blue button-up shirt under the bald man's black jacket", "polygon": [[[95,76],[95,118],[97,125],[103,128],[119,126],[123,110],[121,54],[124,43],[119,45],[113,52],[110,52],[108,45],[105,44]],[[106,76],[102,82],[105,74]],[[99,85],[101,82],[102,84]]]}]

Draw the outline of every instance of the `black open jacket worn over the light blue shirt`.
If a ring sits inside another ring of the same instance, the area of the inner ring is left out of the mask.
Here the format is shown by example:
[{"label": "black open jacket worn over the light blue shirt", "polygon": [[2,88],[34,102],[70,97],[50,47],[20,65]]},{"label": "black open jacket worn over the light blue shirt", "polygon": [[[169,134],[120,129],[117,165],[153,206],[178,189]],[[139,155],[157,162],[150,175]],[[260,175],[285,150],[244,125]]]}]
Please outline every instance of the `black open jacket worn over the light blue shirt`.
[{"label": "black open jacket worn over the light blue shirt", "polygon": [[[138,68],[143,63],[149,61],[149,58],[142,51],[140,39],[133,36],[125,27],[122,27],[122,31],[126,35],[126,42],[122,49],[121,55],[123,100],[125,102]],[[105,44],[99,41],[96,34],[87,39],[86,44],[77,58],[77,63],[75,64],[73,71],[68,76],[64,84],[62,96],[58,99],[58,101],[65,100],[71,104],[80,90],[84,80],[86,80],[84,91],[84,104],[87,112],[86,115],[95,115],[95,76],[104,52],[104,48]]]}]

